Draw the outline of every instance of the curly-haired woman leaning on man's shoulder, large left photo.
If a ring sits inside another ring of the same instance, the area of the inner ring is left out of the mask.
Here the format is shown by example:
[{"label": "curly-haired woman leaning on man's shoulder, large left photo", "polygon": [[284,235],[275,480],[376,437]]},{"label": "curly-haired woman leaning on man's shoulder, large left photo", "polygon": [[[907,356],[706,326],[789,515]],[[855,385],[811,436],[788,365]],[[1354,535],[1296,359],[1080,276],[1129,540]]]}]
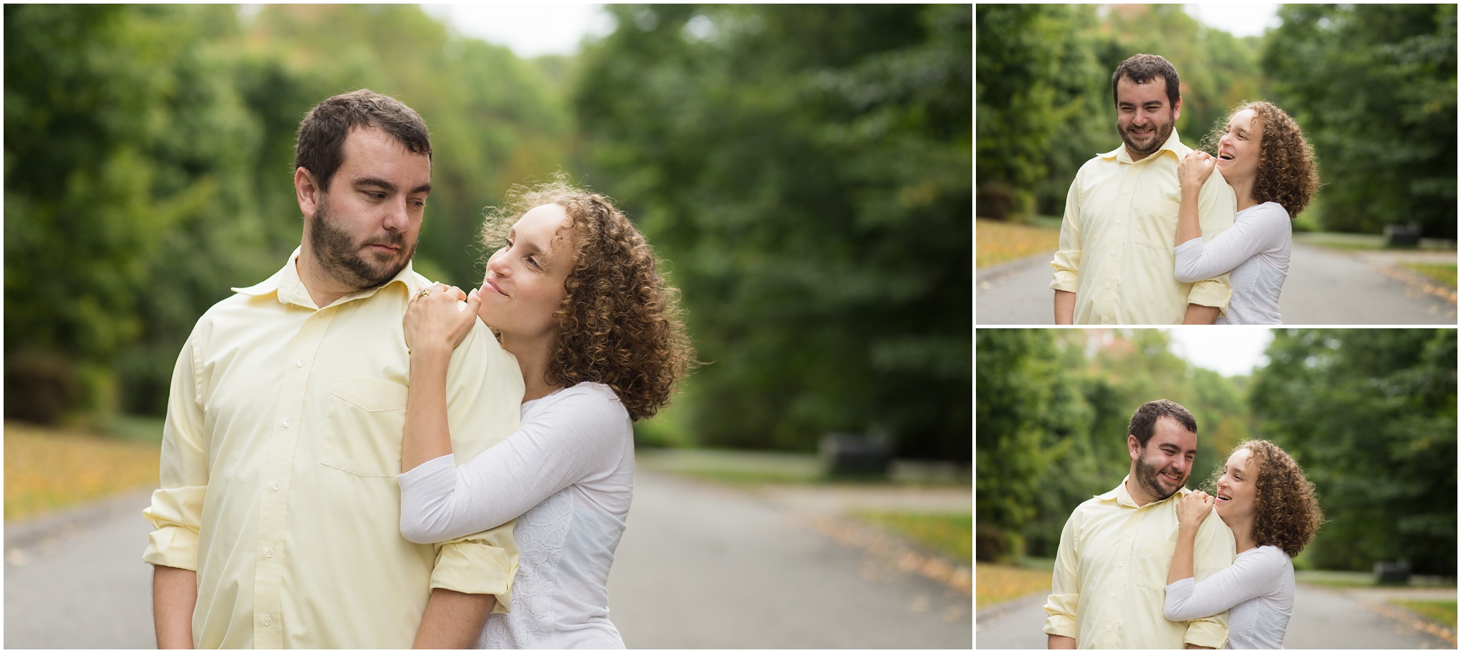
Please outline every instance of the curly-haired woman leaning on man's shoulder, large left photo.
[{"label": "curly-haired woman leaning on man's shoulder, large left photo", "polygon": [[[513,609],[488,618],[479,646],[622,649],[606,583],[630,508],[631,421],[665,406],[693,364],[676,291],[608,199],[558,178],[508,203],[482,229],[497,244],[516,219],[482,288],[437,285],[406,311],[402,533],[440,542],[517,517]],[[526,392],[519,429],[456,467],[447,364],[478,317],[517,358]]]}]

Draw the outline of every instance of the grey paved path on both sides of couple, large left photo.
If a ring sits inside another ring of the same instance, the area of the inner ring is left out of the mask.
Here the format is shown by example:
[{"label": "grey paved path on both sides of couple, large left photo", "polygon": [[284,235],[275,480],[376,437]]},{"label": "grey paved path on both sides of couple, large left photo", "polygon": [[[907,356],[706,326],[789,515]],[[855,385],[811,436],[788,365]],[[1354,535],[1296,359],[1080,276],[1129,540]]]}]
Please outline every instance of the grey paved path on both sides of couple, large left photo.
[{"label": "grey paved path on both sides of couple, large left photo", "polygon": [[[973,646],[967,589],[824,535],[825,510],[866,501],[758,495],[652,472],[634,489],[609,578],[612,618],[631,649]],[[961,504],[957,494],[935,503],[967,510],[969,492]],[[909,504],[894,495],[887,501]],[[146,494],[112,504],[85,508],[89,519],[69,529],[7,524],[7,649],[155,644],[152,571],[140,560]]]}]

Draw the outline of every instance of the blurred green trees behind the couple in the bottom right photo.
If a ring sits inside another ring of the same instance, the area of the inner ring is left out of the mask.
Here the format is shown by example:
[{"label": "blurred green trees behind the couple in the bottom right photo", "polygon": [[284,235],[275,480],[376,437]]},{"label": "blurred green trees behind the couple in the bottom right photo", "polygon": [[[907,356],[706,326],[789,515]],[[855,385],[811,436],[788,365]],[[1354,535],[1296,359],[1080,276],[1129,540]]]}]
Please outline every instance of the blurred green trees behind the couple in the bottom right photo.
[{"label": "blurred green trees behind the couple in the bottom right photo", "polygon": [[1454,329],[1280,330],[1251,377],[1195,368],[1156,330],[974,337],[979,560],[1053,557],[1071,510],[1126,475],[1131,413],[1166,397],[1198,422],[1189,488],[1251,437],[1305,467],[1330,520],[1308,564],[1455,576]]}]

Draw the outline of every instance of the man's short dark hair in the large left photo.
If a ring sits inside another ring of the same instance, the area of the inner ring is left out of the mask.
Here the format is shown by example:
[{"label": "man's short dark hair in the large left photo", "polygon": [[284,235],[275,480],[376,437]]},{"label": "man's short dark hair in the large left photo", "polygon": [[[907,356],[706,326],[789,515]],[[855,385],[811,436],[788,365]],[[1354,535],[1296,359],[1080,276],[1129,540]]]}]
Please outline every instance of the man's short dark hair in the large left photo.
[{"label": "man's short dark hair in the large left photo", "polygon": [[327,190],[345,162],[345,137],[355,127],[378,127],[412,153],[431,159],[431,134],[421,114],[396,98],[359,89],[329,98],[304,115],[294,143],[295,169],[310,171]]}]

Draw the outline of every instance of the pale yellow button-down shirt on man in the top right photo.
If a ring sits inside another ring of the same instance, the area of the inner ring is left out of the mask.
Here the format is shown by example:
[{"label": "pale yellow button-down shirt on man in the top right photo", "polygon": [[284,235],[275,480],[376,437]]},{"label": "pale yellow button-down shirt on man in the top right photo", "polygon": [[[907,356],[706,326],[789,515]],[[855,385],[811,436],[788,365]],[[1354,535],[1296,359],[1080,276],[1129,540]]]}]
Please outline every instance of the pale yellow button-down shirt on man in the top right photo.
[{"label": "pale yellow button-down shirt on man in the top right photo", "polygon": [[[1122,145],[1086,162],[1065,197],[1050,288],[1075,294],[1075,324],[1180,324],[1188,304],[1226,308],[1227,275],[1176,279],[1178,164],[1192,152],[1176,130],[1132,161]],[[1198,193],[1202,238],[1233,225],[1237,200],[1213,171]]]}]

